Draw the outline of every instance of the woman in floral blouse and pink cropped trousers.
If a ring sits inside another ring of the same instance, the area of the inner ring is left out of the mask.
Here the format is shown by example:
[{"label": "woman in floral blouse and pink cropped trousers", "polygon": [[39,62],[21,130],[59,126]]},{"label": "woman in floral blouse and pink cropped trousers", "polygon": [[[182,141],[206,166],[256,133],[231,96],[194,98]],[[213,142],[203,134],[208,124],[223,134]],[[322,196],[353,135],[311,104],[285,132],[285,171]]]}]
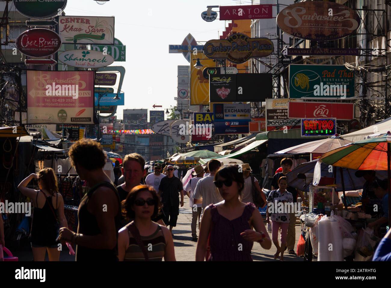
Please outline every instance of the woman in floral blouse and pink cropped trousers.
[{"label": "woman in floral blouse and pink cropped trousers", "polygon": [[[288,186],[288,181],[285,176],[278,179],[278,190],[273,190],[270,192],[269,197],[267,197],[267,217],[266,222],[269,222],[269,219],[272,223],[272,240],[274,245],[277,248],[276,254],[274,254],[274,259],[277,259],[278,255],[281,252],[280,260],[284,259],[284,251],[286,246],[286,238],[289,226],[289,212],[288,206],[285,203],[293,203],[293,196],[289,193],[286,188]],[[282,203],[282,204],[278,204]],[[278,213],[277,213],[278,212]],[[281,228],[281,247],[278,243],[278,230]]]}]

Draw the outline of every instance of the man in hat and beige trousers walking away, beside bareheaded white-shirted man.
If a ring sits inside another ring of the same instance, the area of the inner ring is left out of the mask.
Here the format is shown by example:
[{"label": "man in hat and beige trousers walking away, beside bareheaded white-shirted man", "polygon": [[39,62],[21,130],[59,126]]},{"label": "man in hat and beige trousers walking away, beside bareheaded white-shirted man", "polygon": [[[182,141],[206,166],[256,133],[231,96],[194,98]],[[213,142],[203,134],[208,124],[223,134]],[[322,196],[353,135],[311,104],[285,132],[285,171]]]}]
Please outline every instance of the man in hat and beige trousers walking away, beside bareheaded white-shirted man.
[{"label": "man in hat and beige trousers walking away, beside bareheaded white-shirted man", "polygon": [[186,183],[185,187],[183,187],[183,190],[185,190],[186,195],[190,199],[190,209],[192,209],[192,226],[191,226],[192,237],[193,237],[193,241],[197,241],[197,221],[198,221],[198,230],[199,230],[199,221],[201,218],[201,210],[202,210],[202,200],[200,200],[199,203],[194,204],[192,195],[194,193],[195,186],[197,185],[198,181],[202,179],[204,176],[204,168],[202,168],[201,165],[195,166],[192,175],[196,177],[190,179]]}]

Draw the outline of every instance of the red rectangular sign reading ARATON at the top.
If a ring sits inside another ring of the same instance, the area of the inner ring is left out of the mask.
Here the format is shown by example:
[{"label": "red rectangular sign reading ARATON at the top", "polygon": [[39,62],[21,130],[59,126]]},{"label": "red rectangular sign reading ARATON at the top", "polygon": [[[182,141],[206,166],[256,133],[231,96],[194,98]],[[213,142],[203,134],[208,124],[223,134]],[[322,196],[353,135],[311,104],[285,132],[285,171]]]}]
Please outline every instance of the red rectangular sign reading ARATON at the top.
[{"label": "red rectangular sign reading ARATON at the top", "polygon": [[273,5],[220,6],[220,20],[271,19]]}]

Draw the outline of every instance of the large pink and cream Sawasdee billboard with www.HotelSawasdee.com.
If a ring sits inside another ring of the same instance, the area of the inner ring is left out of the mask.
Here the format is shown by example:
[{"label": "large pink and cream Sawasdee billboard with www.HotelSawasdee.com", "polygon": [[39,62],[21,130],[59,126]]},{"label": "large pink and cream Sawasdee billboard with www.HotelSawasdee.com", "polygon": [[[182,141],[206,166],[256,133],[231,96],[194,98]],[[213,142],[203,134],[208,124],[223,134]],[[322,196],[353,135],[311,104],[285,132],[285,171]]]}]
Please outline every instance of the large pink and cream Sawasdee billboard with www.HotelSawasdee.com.
[{"label": "large pink and cream Sawasdee billboard with www.HotelSawasdee.com", "polygon": [[27,123],[93,124],[94,71],[27,71]]}]

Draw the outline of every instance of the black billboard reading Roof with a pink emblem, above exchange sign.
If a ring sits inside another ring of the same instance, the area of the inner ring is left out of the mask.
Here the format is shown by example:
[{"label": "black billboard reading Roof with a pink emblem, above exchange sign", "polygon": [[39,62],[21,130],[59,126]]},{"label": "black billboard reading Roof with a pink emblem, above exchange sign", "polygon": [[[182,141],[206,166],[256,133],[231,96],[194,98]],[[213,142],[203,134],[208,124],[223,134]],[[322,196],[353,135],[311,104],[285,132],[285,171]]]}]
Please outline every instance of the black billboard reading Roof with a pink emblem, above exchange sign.
[{"label": "black billboard reading Roof with a pink emblem, above exchange sign", "polygon": [[209,75],[210,102],[261,102],[273,95],[271,73]]}]

